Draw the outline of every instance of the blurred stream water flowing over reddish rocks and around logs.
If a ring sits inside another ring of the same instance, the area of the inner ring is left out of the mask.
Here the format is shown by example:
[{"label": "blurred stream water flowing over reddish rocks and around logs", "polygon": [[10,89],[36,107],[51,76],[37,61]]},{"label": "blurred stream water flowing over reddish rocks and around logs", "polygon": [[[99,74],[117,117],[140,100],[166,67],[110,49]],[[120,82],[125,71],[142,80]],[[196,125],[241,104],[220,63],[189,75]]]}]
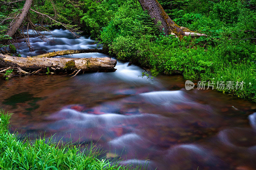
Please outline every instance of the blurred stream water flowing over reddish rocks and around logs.
[{"label": "blurred stream water flowing over reddish rocks and around logs", "polygon": [[[96,48],[82,36],[51,32],[54,42],[31,38],[35,52]],[[51,35],[48,35],[50,39]],[[100,53],[68,57],[106,57]],[[182,76],[142,77],[144,71],[117,62],[116,72],[23,76],[0,80],[0,106],[20,134],[90,143],[121,164],[147,169],[256,169],[256,105],[215,90],[185,90]]]}]

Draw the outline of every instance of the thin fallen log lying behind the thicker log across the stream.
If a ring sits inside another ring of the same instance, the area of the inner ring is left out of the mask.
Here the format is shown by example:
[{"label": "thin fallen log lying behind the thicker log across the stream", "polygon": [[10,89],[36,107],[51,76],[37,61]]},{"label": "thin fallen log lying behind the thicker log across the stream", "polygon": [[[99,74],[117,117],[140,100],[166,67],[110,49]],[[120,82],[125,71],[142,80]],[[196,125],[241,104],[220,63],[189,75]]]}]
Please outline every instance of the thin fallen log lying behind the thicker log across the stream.
[{"label": "thin fallen log lying behind the thicker log across the stream", "polygon": [[42,58],[42,57],[56,57],[61,55],[69,55],[69,54],[78,54],[78,53],[104,53],[108,54],[108,52],[101,50],[101,49],[77,49],[77,50],[61,50],[61,51],[54,51],[51,53],[46,54],[40,54],[37,56],[34,56],[36,58]]}]

